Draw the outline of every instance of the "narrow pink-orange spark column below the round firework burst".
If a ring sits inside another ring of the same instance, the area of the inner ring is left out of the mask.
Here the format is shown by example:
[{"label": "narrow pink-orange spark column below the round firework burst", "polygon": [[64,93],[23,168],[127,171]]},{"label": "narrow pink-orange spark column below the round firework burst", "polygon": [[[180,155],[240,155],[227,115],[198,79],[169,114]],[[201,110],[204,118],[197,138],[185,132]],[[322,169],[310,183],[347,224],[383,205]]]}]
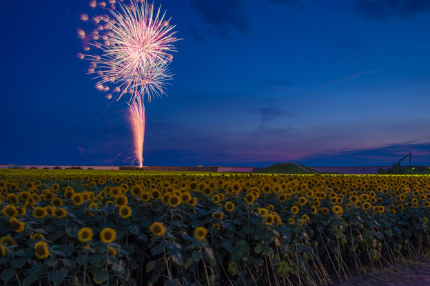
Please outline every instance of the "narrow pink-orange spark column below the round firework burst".
[{"label": "narrow pink-orange spark column below the round firework burst", "polygon": [[136,96],[129,107],[130,125],[134,138],[134,158],[138,161],[139,167],[143,165],[143,141],[145,141],[145,106],[141,96]]}]

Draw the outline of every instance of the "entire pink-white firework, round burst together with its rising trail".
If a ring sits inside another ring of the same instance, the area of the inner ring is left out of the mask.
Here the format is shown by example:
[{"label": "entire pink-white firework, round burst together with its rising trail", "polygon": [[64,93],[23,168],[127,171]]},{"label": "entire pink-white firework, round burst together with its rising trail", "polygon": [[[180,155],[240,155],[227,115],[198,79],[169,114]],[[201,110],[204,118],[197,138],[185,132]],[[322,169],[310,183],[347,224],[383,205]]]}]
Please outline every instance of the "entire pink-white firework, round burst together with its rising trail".
[{"label": "entire pink-white firework, round burst together with its rising trail", "polygon": [[[123,0],[121,1],[123,2]],[[119,4],[119,8],[116,8]],[[143,164],[143,141],[145,136],[145,107],[143,99],[151,101],[163,94],[167,81],[172,79],[168,66],[172,62],[173,43],[177,41],[172,32],[175,25],[161,14],[161,7],[145,0],[117,3],[116,0],[90,1],[90,8],[103,14],[90,17],[81,14],[80,19],[92,23],[92,30],[78,29],[83,40],[83,52],[79,59],[88,59],[89,74],[97,80],[96,90],[106,92],[106,99],[118,101],[130,94],[130,125],[134,136],[134,156]]]}]

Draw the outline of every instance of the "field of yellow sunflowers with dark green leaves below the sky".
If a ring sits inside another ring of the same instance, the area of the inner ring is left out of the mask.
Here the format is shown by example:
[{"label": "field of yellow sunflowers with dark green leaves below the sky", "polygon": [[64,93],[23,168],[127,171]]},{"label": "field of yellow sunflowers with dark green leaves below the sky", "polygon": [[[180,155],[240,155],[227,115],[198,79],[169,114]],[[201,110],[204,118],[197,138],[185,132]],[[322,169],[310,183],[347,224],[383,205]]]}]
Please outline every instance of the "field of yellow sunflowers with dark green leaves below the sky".
[{"label": "field of yellow sunflowers with dark green leaves below the sky", "polygon": [[0,170],[0,284],[330,285],[429,218],[428,175]]}]

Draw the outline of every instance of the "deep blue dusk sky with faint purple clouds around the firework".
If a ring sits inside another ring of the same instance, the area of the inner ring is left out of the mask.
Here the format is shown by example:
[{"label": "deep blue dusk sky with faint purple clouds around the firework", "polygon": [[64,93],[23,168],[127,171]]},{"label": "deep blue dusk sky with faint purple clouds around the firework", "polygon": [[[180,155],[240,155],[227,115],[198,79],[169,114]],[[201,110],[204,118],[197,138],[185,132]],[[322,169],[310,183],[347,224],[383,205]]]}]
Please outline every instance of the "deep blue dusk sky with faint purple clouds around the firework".
[{"label": "deep blue dusk sky with faint purple clouds around the firework", "polygon": [[[88,1],[1,6],[0,164],[129,164],[127,101],[109,105],[76,57]],[[183,40],[168,97],[145,103],[145,165],[430,164],[430,1],[162,10]]]}]

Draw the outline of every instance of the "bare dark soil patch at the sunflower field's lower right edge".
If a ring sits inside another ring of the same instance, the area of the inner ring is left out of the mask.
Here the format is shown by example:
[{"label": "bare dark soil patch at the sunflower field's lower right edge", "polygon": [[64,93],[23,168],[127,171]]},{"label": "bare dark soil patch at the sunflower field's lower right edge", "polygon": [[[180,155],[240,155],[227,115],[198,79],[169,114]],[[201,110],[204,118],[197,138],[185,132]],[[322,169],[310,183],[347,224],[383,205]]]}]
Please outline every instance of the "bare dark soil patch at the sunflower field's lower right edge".
[{"label": "bare dark soil patch at the sunflower field's lower right edge", "polygon": [[367,274],[336,281],[334,286],[429,286],[430,256],[402,261]]}]

